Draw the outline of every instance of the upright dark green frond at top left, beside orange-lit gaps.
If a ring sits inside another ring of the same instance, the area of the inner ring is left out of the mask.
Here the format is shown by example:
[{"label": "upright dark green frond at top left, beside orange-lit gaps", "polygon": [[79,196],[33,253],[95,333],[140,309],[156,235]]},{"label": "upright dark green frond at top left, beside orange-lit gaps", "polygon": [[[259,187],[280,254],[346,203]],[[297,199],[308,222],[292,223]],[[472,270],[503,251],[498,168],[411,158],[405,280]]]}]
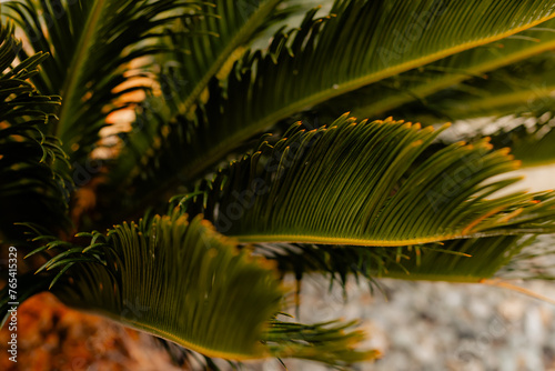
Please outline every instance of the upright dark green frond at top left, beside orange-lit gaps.
[{"label": "upright dark green frond at top left, beside orange-lit gaps", "polygon": [[[50,130],[72,159],[90,152],[104,127],[108,112],[132,102],[122,94],[145,87],[131,82],[141,77],[129,64],[164,51],[149,42],[160,28],[183,14],[199,10],[199,1],[181,0],[23,0],[2,4],[8,17],[26,32],[32,52],[53,58],[32,81],[42,93],[60,94],[63,106]],[[20,58],[27,52],[21,51]],[[122,83],[128,89],[122,89]],[[132,86],[132,88],[129,88]]]}]

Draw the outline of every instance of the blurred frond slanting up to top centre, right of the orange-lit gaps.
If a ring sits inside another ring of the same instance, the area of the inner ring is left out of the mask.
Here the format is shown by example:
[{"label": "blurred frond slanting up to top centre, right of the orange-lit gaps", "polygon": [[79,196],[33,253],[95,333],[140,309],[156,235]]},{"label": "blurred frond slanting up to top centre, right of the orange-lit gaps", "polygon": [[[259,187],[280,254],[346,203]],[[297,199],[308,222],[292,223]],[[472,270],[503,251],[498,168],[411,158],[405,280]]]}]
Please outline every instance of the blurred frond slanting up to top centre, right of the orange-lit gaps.
[{"label": "blurred frond slanting up to top centre, right of the orange-lit gaps", "polygon": [[[145,176],[142,169],[144,163],[160,161],[160,143],[174,136],[171,118],[185,117],[194,111],[210,79],[216,74],[225,77],[246,44],[291,11],[291,7],[276,9],[281,2],[212,1],[203,4],[203,16],[183,20],[182,27],[188,32],[178,30],[168,37],[172,54],[164,56],[159,67],[162,94],[149,94],[141,104],[141,111],[159,117],[144,118],[145,113],[140,113],[134,122],[138,129],[123,134],[127,146],[118,159],[117,169],[112,171],[113,183],[120,188],[129,187],[137,181],[137,177]],[[203,52],[194,52],[196,50]]]}]

